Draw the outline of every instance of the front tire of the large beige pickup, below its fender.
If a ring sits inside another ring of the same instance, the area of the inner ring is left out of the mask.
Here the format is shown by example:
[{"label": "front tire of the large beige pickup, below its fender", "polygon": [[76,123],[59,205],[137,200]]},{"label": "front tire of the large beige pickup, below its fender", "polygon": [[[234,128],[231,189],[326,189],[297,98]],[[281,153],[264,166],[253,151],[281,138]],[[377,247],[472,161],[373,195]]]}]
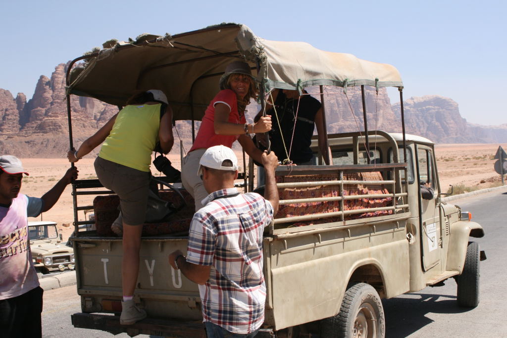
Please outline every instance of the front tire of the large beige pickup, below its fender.
[{"label": "front tire of the large beige pickup, below its fender", "polygon": [[466,248],[465,266],[463,272],[456,279],[458,284],[458,305],[475,308],[479,305],[479,277],[481,252],[479,243],[470,242]]}]

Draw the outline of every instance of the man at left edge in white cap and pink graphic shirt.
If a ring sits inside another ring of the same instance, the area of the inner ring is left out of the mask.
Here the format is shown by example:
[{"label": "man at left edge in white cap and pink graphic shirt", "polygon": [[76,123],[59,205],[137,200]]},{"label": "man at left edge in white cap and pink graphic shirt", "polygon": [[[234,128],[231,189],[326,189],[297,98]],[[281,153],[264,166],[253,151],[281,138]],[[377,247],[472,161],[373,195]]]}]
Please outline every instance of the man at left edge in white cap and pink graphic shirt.
[{"label": "man at left edge in white cap and pink graphic shirt", "polygon": [[19,194],[23,174],[20,160],[0,156],[0,335],[41,337],[43,289],[32,264],[27,217],[51,209],[78,170],[68,169],[42,198]]}]

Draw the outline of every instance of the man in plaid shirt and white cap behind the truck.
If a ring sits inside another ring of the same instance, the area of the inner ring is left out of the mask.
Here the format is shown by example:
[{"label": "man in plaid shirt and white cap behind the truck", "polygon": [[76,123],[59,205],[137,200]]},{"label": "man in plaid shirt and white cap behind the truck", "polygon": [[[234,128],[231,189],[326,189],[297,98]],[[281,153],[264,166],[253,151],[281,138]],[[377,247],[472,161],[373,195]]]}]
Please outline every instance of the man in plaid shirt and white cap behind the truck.
[{"label": "man in plaid shirt and white cap behind the truck", "polygon": [[[169,264],[199,284],[208,337],[253,337],[264,322],[266,284],[263,275],[264,227],[278,210],[274,171],[276,155],[262,156],[265,198],[239,194],[237,158],[223,145],[202,156],[198,174],[209,195],[192,219],[188,256],[176,250]],[[232,335],[231,335],[232,334]]]}]

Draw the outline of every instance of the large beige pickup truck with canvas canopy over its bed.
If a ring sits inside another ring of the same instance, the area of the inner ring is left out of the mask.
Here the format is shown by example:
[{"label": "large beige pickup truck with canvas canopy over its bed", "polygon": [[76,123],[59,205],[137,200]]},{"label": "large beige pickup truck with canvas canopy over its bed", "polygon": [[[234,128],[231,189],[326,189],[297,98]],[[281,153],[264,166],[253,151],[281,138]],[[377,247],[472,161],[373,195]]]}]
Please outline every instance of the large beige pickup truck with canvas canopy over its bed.
[{"label": "large beige pickup truck with canvas canopy over its bed", "polygon": [[[86,63],[70,72],[82,59]],[[167,94],[174,119],[192,120],[193,125],[218,92],[218,79],[231,59],[257,69],[262,93],[320,86],[324,117],[333,114],[325,111],[324,85],[342,87],[343,94],[351,86],[403,90],[390,65],[303,43],[267,41],[244,25],[223,24],[172,36],[140,36],[77,58],[67,73],[67,100],[76,94],[122,105],[133,90],[156,84]],[[264,99],[260,95],[262,107]],[[68,114],[71,126],[70,105]],[[383,298],[450,277],[458,282],[459,305],[479,302],[479,264],[485,255],[470,237],[483,237],[484,231],[468,213],[442,202],[433,143],[404,132],[371,131],[366,122],[361,130],[328,135],[331,165],[322,165],[314,145],[319,165],[276,170],[280,208],[264,236],[267,296],[259,337],[383,337]],[[253,189],[252,168],[238,181],[239,189]],[[430,199],[421,196],[426,185],[433,191]],[[175,249],[186,251],[193,214],[192,198],[178,192],[183,196],[160,185],[161,197],[186,206],[167,222],[143,226],[134,300],[149,318],[122,326],[122,241],[108,229],[118,215],[118,199],[100,190],[97,180],[73,183],[76,231],[70,240],[81,296],[74,326],[131,336],[202,336],[197,285],[167,262]],[[90,194],[100,196],[93,206],[81,205],[80,196]],[[91,208],[96,230],[80,231],[90,221],[79,220],[79,211]]]}]

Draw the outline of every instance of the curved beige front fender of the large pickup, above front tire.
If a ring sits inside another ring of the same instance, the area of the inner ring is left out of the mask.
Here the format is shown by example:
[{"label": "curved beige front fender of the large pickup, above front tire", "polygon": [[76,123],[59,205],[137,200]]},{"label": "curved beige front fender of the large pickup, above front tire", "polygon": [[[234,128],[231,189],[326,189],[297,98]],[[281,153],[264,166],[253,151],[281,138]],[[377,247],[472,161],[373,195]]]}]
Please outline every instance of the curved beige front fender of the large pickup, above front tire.
[{"label": "curved beige front fender of the large pickup, above front tire", "polygon": [[484,229],[476,222],[457,221],[451,224],[451,235],[449,237],[449,250],[447,251],[447,271],[463,271],[465,264],[466,247],[468,238],[483,237]]}]

